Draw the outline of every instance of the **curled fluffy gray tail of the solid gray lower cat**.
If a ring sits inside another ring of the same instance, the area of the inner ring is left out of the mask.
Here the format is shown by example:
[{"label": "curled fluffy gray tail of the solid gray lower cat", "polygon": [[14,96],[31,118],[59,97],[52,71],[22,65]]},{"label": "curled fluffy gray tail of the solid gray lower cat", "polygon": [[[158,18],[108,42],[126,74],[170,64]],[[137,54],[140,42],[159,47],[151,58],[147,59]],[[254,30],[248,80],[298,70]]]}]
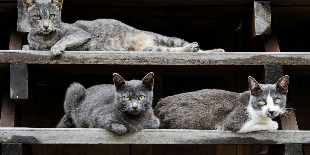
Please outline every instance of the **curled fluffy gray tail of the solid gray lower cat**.
[{"label": "curled fluffy gray tail of the solid gray lower cat", "polygon": [[82,100],[85,96],[85,88],[80,83],[72,83],[64,99],[64,111],[68,117],[71,117],[71,111],[78,109],[79,104],[82,103]]}]

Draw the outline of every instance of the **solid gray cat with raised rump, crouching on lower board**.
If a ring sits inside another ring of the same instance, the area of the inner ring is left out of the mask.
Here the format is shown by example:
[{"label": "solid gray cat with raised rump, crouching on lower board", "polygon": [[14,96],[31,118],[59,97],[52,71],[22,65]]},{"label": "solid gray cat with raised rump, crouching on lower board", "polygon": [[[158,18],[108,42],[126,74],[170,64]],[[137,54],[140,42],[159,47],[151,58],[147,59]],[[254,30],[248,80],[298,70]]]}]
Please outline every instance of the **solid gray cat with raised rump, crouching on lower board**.
[{"label": "solid gray cat with raised rump, crouching on lower board", "polygon": [[141,129],[157,129],[153,114],[154,74],[142,81],[125,81],[113,74],[113,85],[96,85],[85,89],[73,83],[64,100],[65,115],[57,128],[105,128],[118,134]]}]

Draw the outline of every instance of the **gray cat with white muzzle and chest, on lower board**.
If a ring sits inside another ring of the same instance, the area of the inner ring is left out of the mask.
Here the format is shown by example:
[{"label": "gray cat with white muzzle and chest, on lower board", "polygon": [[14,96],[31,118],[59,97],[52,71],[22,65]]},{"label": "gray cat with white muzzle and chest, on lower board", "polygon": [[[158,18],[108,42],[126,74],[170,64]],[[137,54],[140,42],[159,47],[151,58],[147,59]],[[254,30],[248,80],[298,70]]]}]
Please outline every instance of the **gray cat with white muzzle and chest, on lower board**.
[{"label": "gray cat with white muzzle and chest, on lower board", "polygon": [[259,84],[249,77],[250,91],[235,93],[203,89],[160,100],[154,108],[160,128],[215,129],[232,132],[277,130],[272,118],[288,113],[289,77],[276,84]]}]

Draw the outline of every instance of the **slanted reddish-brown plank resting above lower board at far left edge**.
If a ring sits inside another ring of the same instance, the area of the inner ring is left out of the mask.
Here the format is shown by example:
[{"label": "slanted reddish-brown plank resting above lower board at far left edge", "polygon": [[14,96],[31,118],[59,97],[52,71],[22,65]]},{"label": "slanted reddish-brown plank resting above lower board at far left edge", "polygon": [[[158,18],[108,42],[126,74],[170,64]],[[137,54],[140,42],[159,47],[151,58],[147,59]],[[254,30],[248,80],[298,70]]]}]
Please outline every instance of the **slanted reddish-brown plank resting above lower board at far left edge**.
[{"label": "slanted reddish-brown plank resting above lower board at far left edge", "polygon": [[11,100],[9,92],[4,91],[0,126],[13,127],[15,122],[15,102]]}]

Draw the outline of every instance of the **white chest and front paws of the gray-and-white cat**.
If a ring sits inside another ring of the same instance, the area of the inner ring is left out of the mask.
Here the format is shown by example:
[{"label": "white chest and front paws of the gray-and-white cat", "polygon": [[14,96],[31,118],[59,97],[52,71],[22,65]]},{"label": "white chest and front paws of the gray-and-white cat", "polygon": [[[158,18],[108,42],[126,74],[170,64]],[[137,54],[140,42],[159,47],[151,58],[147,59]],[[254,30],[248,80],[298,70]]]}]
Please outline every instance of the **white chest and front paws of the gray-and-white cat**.
[{"label": "white chest and front paws of the gray-and-white cat", "polygon": [[257,112],[250,105],[247,107],[247,112],[250,120],[242,126],[238,133],[278,129],[277,122],[272,121],[269,117],[257,115]]}]

